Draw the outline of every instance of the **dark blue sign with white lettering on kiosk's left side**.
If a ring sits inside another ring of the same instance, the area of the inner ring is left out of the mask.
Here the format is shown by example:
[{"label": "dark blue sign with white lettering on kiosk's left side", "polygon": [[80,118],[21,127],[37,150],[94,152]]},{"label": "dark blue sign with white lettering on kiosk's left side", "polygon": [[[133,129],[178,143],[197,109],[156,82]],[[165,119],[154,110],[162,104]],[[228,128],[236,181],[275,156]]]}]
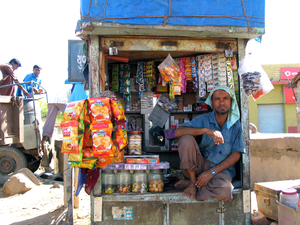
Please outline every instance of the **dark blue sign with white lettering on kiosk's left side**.
[{"label": "dark blue sign with white lettering on kiosk's left side", "polygon": [[68,81],[83,82],[83,69],[86,57],[83,54],[83,44],[81,40],[68,41]]}]

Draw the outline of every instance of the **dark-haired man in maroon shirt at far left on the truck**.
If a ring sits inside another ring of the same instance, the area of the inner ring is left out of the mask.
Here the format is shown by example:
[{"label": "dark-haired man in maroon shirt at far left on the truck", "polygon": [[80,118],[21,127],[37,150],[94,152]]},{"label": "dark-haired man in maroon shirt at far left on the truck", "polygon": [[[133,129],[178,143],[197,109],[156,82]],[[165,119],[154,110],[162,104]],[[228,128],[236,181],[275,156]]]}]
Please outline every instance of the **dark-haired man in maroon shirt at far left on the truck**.
[{"label": "dark-haired man in maroon shirt at far left on the truck", "polygon": [[[0,64],[0,70],[2,72],[3,78],[0,80],[0,86],[9,85],[13,83],[20,83],[17,79],[17,76],[14,74],[14,71],[21,67],[21,63],[16,58],[13,58],[9,61],[9,64]],[[23,88],[22,85],[18,85],[21,90],[23,91],[25,96],[28,96],[28,92]],[[14,96],[15,95],[15,87],[5,87],[0,88],[0,95],[7,95],[7,96]]]}]

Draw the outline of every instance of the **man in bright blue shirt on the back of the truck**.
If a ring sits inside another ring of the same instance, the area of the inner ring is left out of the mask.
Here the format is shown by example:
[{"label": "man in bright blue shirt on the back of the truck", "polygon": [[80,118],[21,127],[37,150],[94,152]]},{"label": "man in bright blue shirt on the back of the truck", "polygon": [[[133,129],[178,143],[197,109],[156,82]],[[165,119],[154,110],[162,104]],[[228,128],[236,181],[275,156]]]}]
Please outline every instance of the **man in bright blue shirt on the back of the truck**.
[{"label": "man in bright blue shirt on the back of the truck", "polygon": [[[42,81],[39,77],[40,73],[41,73],[42,67],[40,67],[39,65],[34,65],[33,66],[33,73],[27,74],[26,77],[24,78],[23,82],[29,82],[29,81],[34,81],[36,83],[33,83],[32,87],[31,84],[24,84],[24,88],[25,90],[29,93],[29,96],[27,96],[28,98],[32,98],[33,94],[41,94],[43,93],[43,89],[40,88],[39,85],[41,85]],[[34,92],[34,93],[33,93]],[[21,90],[18,89],[17,91],[17,96],[21,95]]]}]

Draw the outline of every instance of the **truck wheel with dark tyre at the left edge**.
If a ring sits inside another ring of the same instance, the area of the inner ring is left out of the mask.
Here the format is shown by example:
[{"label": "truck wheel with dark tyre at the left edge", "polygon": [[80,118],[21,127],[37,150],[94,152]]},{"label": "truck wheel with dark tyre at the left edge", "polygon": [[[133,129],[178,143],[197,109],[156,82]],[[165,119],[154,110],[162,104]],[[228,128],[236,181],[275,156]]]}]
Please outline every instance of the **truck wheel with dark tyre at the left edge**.
[{"label": "truck wheel with dark tyre at the left edge", "polygon": [[17,148],[0,147],[0,184],[4,184],[13,174],[27,167],[25,155]]}]

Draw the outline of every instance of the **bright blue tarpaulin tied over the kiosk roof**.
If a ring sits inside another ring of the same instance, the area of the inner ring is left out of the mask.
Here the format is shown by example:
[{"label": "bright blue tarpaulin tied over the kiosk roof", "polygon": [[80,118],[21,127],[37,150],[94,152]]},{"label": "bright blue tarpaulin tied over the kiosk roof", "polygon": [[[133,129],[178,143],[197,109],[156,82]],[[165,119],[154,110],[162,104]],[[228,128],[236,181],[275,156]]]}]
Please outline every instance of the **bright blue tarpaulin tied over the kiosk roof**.
[{"label": "bright blue tarpaulin tied over the kiosk roof", "polygon": [[[85,22],[91,19],[91,21],[131,25],[163,25],[164,16],[169,15],[169,2],[169,0],[82,0],[81,19]],[[166,20],[167,25],[264,28],[265,1],[172,0],[170,15]]]}]

